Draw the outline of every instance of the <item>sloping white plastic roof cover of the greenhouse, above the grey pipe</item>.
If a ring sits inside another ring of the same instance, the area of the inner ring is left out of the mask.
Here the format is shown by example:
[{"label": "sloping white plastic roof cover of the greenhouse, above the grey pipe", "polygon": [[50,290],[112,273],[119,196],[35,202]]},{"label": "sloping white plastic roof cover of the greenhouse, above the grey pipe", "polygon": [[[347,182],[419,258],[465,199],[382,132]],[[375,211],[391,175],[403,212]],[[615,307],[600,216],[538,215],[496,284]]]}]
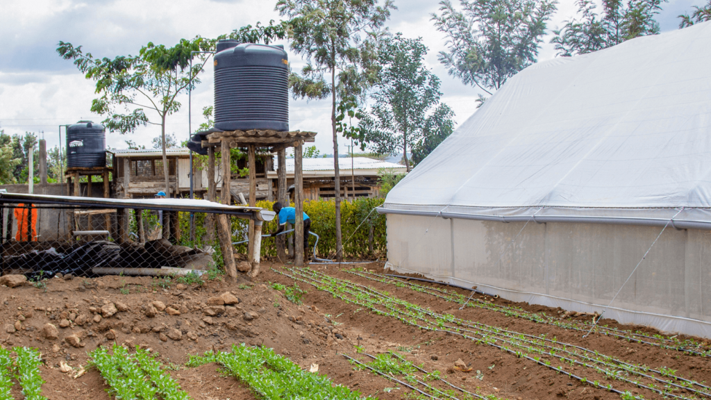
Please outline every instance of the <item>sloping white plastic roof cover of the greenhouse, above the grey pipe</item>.
[{"label": "sloping white plastic roof cover of the greenhouse, above the grey pipe", "polygon": [[536,63],[383,211],[711,222],[711,22]]}]

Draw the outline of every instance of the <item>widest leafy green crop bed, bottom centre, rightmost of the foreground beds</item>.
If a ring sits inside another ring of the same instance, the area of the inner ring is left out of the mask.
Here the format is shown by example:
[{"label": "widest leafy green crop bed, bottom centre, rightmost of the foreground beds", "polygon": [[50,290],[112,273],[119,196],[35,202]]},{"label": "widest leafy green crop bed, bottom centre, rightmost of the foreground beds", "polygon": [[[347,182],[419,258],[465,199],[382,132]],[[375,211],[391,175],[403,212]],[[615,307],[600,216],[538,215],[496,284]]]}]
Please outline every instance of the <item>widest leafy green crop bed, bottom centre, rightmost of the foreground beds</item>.
[{"label": "widest leafy green crop bed, bottom centre, rightmost of the foreground beds", "polygon": [[232,352],[207,352],[193,356],[188,367],[215,362],[228,374],[244,382],[262,399],[375,400],[358,391],[334,385],[326,376],[303,371],[286,357],[268,347],[232,345]]}]

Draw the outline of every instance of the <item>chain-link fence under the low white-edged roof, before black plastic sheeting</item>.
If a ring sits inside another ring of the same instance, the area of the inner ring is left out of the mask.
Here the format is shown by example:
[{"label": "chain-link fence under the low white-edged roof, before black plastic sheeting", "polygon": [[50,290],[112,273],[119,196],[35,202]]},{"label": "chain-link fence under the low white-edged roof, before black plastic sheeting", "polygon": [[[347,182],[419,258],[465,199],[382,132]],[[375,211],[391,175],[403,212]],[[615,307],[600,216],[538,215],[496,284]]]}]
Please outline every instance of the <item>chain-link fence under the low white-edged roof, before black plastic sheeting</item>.
[{"label": "chain-link fence under the low white-edged roof, before black plastic sheeting", "polygon": [[[0,213],[0,275],[170,275],[180,273],[173,268],[223,265],[215,233],[217,214],[61,204],[2,204]],[[246,219],[232,219],[247,225]]]}]

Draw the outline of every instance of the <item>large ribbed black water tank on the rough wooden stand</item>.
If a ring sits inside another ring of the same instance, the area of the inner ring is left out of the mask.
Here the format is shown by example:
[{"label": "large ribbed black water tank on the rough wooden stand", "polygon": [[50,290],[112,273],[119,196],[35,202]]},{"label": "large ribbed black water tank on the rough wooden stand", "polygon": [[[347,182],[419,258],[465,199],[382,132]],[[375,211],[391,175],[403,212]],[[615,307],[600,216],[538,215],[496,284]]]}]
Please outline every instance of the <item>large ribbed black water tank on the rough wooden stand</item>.
[{"label": "large ribbed black water tank on the rough wooden stand", "polygon": [[215,128],[289,130],[289,60],[284,46],[219,41]]}]

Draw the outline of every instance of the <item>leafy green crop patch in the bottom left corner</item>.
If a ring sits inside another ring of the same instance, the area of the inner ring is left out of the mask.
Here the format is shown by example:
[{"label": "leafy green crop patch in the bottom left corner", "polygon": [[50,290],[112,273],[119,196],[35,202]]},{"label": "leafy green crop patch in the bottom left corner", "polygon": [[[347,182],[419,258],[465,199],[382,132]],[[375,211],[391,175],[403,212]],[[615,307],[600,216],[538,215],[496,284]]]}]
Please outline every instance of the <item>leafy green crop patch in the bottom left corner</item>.
[{"label": "leafy green crop patch in the bottom left corner", "polygon": [[8,349],[0,347],[0,400],[12,400],[13,377],[20,382],[26,400],[47,400],[42,396],[42,376],[39,365],[40,353],[28,347],[14,347],[13,361]]}]

